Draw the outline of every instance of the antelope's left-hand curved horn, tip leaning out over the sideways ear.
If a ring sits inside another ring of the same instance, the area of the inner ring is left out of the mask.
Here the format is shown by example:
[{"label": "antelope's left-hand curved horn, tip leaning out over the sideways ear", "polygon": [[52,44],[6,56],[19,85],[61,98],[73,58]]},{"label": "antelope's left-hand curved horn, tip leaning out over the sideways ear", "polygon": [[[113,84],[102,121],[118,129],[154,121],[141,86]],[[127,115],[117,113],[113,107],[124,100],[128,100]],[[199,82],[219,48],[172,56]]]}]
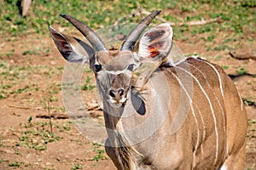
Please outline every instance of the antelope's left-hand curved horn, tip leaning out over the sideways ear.
[{"label": "antelope's left-hand curved horn, tip leaning out over the sideways ear", "polygon": [[91,46],[96,51],[107,51],[107,48],[105,47],[101,38],[98,37],[96,33],[90,29],[89,26],[84,25],[84,23],[81,22],[80,20],[77,20],[67,14],[60,14],[60,15],[64,19],[68,20],[71,24],[73,24],[73,26],[75,26],[84,35],[84,37],[87,38]]}]

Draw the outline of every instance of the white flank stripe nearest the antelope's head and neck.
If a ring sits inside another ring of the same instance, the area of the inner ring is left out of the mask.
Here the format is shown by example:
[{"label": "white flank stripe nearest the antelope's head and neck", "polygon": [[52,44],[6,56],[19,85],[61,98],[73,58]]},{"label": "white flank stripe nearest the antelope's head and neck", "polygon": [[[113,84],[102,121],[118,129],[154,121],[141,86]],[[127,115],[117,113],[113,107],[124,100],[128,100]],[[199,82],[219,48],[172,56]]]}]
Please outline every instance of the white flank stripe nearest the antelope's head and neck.
[{"label": "white flank stripe nearest the antelope's head and neck", "polygon": [[[169,70],[168,70],[169,71]],[[196,153],[196,150],[198,149],[198,145],[199,145],[199,137],[200,137],[200,131],[199,131],[199,125],[198,125],[198,121],[196,119],[196,116],[195,116],[195,111],[194,111],[194,107],[192,105],[192,102],[193,100],[191,99],[191,97],[189,96],[189,93],[188,91],[186,90],[186,88],[183,86],[183,83],[180,81],[180,79],[175,75],[173,74],[172,71],[170,71],[173,75],[173,77],[175,77],[177,79],[177,82],[180,84],[181,88],[183,88],[185,94],[187,94],[188,98],[189,98],[189,105],[190,105],[190,108],[191,108],[191,111],[192,111],[192,115],[194,116],[195,118],[195,124],[196,124],[196,127],[197,127],[197,141],[196,141],[196,144],[195,144],[195,150],[193,152],[193,166],[195,166],[195,153]]]}]

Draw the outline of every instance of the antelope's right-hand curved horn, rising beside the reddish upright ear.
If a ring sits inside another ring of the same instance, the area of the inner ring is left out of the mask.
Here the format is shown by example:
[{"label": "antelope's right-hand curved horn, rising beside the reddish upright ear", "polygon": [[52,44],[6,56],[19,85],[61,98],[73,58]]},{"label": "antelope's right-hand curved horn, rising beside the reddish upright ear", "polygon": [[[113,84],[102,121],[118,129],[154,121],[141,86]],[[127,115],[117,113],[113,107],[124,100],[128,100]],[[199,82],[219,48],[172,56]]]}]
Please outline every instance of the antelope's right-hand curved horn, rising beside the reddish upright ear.
[{"label": "antelope's right-hand curved horn, rising beside the reddish upright ear", "polygon": [[148,27],[148,25],[151,23],[151,21],[154,19],[154,17],[158,14],[160,14],[160,10],[156,10],[151,14],[148,14],[147,17],[145,17],[140,23],[130,32],[130,34],[125,37],[125,40],[122,44],[122,47],[120,48],[120,51],[125,50],[133,50],[135,43],[137,42],[137,39],[140,37],[140,35],[143,33],[143,31]]}]

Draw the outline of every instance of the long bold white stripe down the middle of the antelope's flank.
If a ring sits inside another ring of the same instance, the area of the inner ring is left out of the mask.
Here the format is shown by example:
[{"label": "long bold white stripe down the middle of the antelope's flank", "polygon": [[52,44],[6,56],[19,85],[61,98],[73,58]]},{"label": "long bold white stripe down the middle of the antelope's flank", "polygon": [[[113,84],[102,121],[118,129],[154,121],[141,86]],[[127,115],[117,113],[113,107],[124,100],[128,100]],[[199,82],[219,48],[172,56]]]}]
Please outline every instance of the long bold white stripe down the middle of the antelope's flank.
[{"label": "long bold white stripe down the middle of the antelope's flank", "polygon": [[217,159],[218,159],[218,128],[217,128],[217,120],[216,120],[216,116],[215,116],[213,108],[212,108],[211,100],[209,99],[209,97],[208,97],[206,91],[204,90],[204,88],[202,88],[201,83],[198,81],[198,79],[193,74],[191,74],[189,71],[184,70],[181,67],[177,67],[176,66],[175,68],[178,68],[178,69],[186,72],[188,75],[190,75],[191,77],[193,77],[195,79],[195,82],[197,82],[199,88],[201,88],[201,91],[206,96],[207,101],[208,101],[208,103],[210,105],[210,108],[211,108],[211,111],[212,111],[212,117],[213,117],[213,121],[214,121],[214,129],[215,129],[215,133],[216,133],[216,154],[215,154],[215,160],[214,160],[214,165],[215,165],[216,162],[217,162]]}]

